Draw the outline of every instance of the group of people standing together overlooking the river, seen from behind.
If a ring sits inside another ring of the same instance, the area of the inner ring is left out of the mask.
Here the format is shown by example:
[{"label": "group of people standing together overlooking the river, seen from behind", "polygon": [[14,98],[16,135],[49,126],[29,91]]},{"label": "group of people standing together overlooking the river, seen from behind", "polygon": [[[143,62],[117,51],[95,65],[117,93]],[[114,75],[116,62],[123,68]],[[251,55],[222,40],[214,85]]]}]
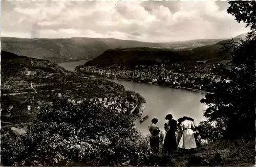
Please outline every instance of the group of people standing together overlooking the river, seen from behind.
[{"label": "group of people standing together overlooking the river, seen from behind", "polygon": [[191,151],[197,148],[197,136],[199,131],[196,128],[194,119],[184,116],[177,121],[172,114],[165,117],[168,122],[164,124],[164,131],[157,127],[157,118],[152,119],[152,124],[148,126],[150,131],[150,147],[153,154],[173,155],[177,150]]}]

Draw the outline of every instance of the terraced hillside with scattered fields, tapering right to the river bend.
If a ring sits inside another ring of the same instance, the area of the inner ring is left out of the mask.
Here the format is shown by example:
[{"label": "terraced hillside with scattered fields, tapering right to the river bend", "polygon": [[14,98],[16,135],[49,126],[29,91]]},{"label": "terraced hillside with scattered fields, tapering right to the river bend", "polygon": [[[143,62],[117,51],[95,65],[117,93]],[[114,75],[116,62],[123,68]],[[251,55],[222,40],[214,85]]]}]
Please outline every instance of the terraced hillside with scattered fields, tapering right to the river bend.
[{"label": "terraced hillside with scattered fields, tapering right to the river bend", "polygon": [[117,97],[120,104],[128,101],[133,106],[136,100],[140,100],[139,95],[136,95],[137,99],[136,96],[131,98],[131,93],[123,85],[82,77],[47,60],[6,51],[1,52],[1,57],[2,125],[33,121],[38,107],[51,104],[56,97],[75,101],[84,98],[108,98],[110,101]]}]

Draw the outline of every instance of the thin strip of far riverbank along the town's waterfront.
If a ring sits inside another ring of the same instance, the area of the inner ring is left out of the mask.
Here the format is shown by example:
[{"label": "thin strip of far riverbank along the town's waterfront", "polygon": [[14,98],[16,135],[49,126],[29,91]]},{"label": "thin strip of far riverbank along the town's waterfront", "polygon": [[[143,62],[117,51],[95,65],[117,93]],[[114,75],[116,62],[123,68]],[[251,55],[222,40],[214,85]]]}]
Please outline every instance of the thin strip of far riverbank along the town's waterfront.
[{"label": "thin strip of far riverbank along the town's waterfront", "polygon": [[200,92],[204,94],[208,94],[210,92],[200,90],[200,89],[194,89],[194,88],[187,88],[183,86],[175,86],[175,85],[168,85],[168,84],[160,84],[160,83],[155,83],[155,82],[144,82],[144,81],[137,81],[136,79],[124,79],[124,78],[110,78],[110,77],[103,77],[103,76],[89,76],[88,77],[98,77],[98,78],[103,78],[103,79],[111,79],[111,80],[123,80],[123,81],[132,81],[132,82],[137,82],[137,83],[146,83],[146,84],[151,84],[151,85],[156,85],[156,86],[166,86],[170,88],[175,88],[175,89],[184,89],[184,90],[190,90],[190,91],[195,91],[195,92]]}]

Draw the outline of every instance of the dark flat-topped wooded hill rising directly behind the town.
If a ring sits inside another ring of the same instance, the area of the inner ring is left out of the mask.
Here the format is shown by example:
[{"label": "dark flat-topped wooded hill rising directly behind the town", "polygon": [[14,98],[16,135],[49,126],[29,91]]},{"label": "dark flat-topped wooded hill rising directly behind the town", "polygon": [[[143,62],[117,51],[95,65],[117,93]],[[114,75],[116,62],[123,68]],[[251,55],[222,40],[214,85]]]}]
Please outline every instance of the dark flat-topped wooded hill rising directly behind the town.
[{"label": "dark flat-topped wooded hill rising directly behind the town", "polygon": [[150,47],[117,48],[105,51],[86,65],[147,65],[155,63],[182,62],[185,58],[179,52],[170,49]]}]

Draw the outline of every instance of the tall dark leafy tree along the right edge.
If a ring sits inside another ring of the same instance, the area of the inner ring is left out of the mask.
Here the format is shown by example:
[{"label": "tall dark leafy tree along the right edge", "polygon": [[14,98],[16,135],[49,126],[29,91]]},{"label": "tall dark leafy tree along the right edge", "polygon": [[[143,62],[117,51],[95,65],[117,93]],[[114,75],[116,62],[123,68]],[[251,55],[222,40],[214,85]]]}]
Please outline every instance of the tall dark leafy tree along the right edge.
[{"label": "tall dark leafy tree along the right edge", "polygon": [[255,33],[256,3],[232,1],[229,4],[228,13],[238,22],[247,23],[251,32],[245,41],[231,41],[231,66],[226,69],[221,82],[209,88],[211,94],[201,102],[209,106],[204,113],[209,121],[226,122],[225,137],[254,137],[256,40],[251,34]]}]

